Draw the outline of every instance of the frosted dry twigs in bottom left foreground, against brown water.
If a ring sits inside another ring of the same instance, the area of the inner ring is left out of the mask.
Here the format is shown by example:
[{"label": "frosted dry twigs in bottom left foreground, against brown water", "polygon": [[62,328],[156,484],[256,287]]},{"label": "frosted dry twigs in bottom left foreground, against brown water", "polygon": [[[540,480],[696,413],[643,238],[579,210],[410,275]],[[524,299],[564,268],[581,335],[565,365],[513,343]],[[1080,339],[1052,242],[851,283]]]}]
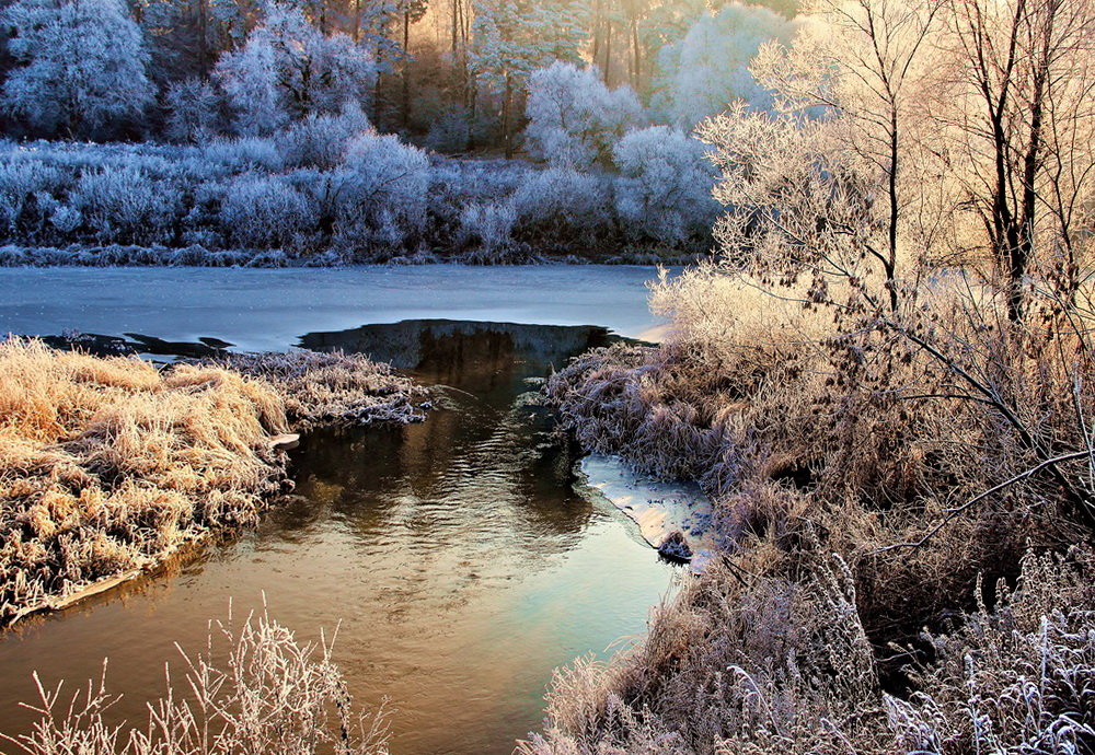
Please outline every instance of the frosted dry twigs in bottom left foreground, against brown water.
[{"label": "frosted dry twigs in bottom left foreground, against brown water", "polygon": [[[331,646],[301,643],[265,612],[216,623],[201,653],[183,653],[184,693],[149,701],[142,728],[114,722],[103,677],[66,701],[62,685],[30,706],[41,719],[10,739],[28,755],[381,755],[388,716],[355,711]],[[37,681],[37,677],[35,677]],[[0,739],[3,739],[0,736]]]}]

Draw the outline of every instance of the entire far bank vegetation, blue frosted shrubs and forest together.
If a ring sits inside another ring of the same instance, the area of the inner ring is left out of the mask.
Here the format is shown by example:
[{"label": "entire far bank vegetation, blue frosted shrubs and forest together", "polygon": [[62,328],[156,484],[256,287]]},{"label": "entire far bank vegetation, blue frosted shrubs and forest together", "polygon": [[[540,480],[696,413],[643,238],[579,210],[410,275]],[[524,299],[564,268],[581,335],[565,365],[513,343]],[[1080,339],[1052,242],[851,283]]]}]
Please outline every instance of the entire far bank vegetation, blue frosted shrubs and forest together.
[{"label": "entire far bank vegetation, blue frosted shrubs and forest together", "polygon": [[692,131],[737,100],[770,107],[748,60],[797,27],[609,0],[19,0],[0,18],[3,265],[706,253],[715,170]]}]

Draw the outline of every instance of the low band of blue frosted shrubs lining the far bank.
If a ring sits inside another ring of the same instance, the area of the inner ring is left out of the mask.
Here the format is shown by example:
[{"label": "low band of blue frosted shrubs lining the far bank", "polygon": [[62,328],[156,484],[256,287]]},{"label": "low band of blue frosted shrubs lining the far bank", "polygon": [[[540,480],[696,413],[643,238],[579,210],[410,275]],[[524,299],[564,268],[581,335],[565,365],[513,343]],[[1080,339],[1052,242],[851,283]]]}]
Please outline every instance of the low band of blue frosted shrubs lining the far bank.
[{"label": "low band of blue frosted shrubs lining the far bank", "polygon": [[0,265],[676,259],[717,205],[701,146],[661,128],[583,172],[430,155],[359,111],[203,146],[4,142]]}]

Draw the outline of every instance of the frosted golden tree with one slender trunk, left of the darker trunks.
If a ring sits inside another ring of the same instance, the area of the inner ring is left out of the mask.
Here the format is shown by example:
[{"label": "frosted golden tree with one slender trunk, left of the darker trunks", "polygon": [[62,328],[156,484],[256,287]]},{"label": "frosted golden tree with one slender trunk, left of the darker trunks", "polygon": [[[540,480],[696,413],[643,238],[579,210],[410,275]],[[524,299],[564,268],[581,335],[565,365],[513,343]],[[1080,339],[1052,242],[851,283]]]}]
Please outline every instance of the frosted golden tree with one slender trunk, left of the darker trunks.
[{"label": "frosted golden tree with one slender trunk, left of the darker trunks", "polygon": [[[822,32],[761,48],[751,70],[775,92],[776,114],[740,108],[701,127],[733,174],[719,198],[752,208],[721,224],[725,249],[762,251],[783,274],[812,272],[816,298],[837,276],[872,307],[898,309],[904,217],[921,184],[903,171],[919,150],[925,43],[940,9],[938,0],[826,0]],[[879,275],[880,294],[863,286]]]}]

